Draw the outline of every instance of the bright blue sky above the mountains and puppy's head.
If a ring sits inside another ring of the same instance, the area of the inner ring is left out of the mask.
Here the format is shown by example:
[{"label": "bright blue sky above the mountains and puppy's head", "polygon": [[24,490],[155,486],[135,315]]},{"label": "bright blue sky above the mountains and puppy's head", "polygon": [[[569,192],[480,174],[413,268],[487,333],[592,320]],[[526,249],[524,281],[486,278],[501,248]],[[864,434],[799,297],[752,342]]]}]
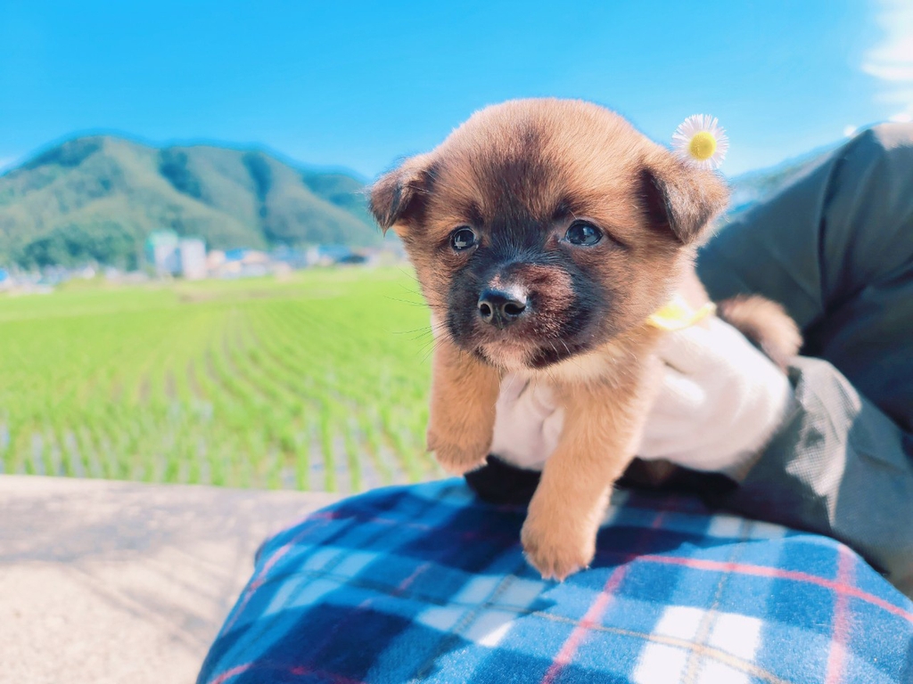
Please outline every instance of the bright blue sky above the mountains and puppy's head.
[{"label": "bright blue sky above the mountains and puppy's head", "polygon": [[910,36],[908,0],[3,0],[0,168],[105,131],[370,178],[486,104],[558,96],[660,141],[713,114],[736,174],[909,119]]}]

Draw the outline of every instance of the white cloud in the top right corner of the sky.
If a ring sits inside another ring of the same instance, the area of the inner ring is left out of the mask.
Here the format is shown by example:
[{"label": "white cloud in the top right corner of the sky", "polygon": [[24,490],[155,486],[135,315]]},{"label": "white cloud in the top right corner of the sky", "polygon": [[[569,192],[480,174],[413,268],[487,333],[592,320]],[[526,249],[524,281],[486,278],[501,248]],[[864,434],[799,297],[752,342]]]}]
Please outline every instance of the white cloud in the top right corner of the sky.
[{"label": "white cloud in the top right corner of the sky", "polygon": [[902,106],[891,120],[910,120],[913,117],[913,2],[876,0],[876,3],[876,21],[884,36],[866,53],[862,70],[884,82],[885,90],[879,99]]}]

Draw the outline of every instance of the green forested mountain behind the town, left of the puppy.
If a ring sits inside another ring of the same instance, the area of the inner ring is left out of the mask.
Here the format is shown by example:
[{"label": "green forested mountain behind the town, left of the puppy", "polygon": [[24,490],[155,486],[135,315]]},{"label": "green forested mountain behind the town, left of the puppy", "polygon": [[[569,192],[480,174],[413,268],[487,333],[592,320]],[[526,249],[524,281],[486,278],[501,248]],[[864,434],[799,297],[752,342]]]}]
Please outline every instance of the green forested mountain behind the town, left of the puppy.
[{"label": "green forested mountain behind the town, left of the puppy", "polygon": [[134,266],[163,228],[213,249],[379,244],[362,191],[259,150],[78,138],[0,176],[0,264]]}]

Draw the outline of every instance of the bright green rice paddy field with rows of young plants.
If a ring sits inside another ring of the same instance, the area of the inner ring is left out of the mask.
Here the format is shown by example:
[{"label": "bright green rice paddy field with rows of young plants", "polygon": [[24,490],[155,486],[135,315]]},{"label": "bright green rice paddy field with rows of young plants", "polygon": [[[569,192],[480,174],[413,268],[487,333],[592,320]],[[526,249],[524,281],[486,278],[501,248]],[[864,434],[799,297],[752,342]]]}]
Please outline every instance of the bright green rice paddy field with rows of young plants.
[{"label": "bright green rice paddy field with rows of young plants", "polygon": [[438,475],[407,269],[0,295],[0,469],[357,492]]}]

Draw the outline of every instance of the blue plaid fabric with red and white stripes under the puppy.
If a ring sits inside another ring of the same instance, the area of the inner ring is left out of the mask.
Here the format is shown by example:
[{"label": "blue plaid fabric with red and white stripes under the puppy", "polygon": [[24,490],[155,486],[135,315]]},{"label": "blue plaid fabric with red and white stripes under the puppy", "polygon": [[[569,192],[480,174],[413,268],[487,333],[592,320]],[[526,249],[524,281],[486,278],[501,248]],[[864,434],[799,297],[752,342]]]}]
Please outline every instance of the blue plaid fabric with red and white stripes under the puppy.
[{"label": "blue plaid fabric with red and white stripes under the puppy", "polygon": [[446,480],[311,515],[263,545],[198,681],[913,682],[913,603],[833,540],[620,492],[558,584],[524,514]]}]

